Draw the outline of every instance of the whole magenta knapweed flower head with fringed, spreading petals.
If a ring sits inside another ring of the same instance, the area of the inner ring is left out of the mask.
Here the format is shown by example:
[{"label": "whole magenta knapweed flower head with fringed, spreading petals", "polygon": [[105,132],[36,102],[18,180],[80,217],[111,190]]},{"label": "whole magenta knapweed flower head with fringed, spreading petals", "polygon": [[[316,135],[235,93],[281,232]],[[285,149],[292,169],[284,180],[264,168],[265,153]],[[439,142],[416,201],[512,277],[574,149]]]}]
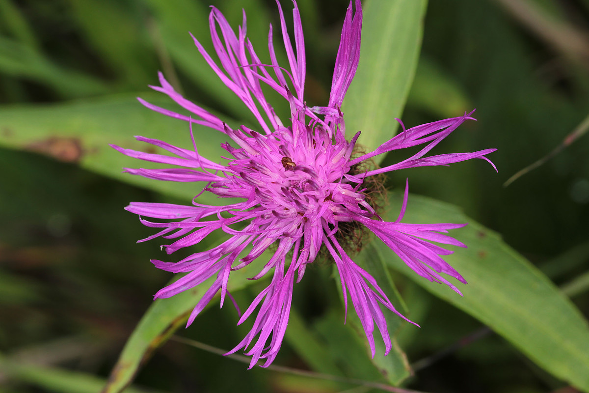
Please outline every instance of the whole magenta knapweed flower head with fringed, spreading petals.
[{"label": "whole magenta knapweed flower head with fringed, spreading petals", "polygon": [[[214,277],[214,283],[188,318],[188,325],[219,292],[221,306],[223,305],[232,271],[249,265],[260,258],[264,251],[272,251],[267,260],[264,260],[262,270],[252,278],[260,279],[272,275],[272,280],[256,296],[238,322],[246,321],[259,308],[252,330],[229,352],[243,348],[247,355],[252,356],[250,368],[259,359],[266,359],[263,366],[267,366],[276,357],[289,320],[294,283],[303,278],[307,265],[317,259],[322,247],[335,262],[346,310],[348,300],[351,299],[368,338],[372,355],[375,354],[375,325],[388,353],[392,343],[379,305],[402,318],[405,317],[396,311],[376,280],[349,256],[349,251],[345,249],[342,237],[339,236],[342,228],[349,227],[352,223],[370,230],[418,275],[434,282],[446,283],[459,292],[440,273],[446,273],[464,283],[466,281],[441,257],[452,251],[438,244],[465,247],[458,240],[446,235],[448,230],[465,224],[402,223],[408,199],[407,187],[398,219],[386,222],[371,206],[371,190],[366,184],[370,184],[369,179],[392,170],[448,165],[471,158],[487,160],[485,155],[495,149],[428,156],[439,141],[465,120],[472,119],[465,114],[408,130],[403,127],[401,133],[371,153],[356,153],[356,140],[360,133],[349,140],[346,138],[340,107],[356,73],[360,57],[360,1],[355,1],[355,7],[350,1],[346,12],[329,103],[325,107],[312,108],[306,106],[303,95],[306,62],[299,9],[293,1],[293,47],[282,8],[279,2],[277,4],[287,65],[277,63],[272,26],[268,42],[271,64],[263,64],[259,60],[246,38],[245,14],[243,25],[236,34],[223,14],[218,9],[211,8],[211,38],[219,62],[213,60],[193,37],[196,47],[210,67],[252,111],[259,123],[256,130],[245,126],[230,128],[216,115],[178,94],[160,73],[161,86],[152,88],[167,94],[190,111],[190,117],[156,107],[141,99],[140,101],[151,110],[187,121],[190,124],[194,149],[187,150],[144,137],[137,139],[167,150],[172,156],[114,146],[127,156],[177,167],[126,169],[129,173],[157,180],[206,181],[208,186],[203,192],[213,193],[220,198],[237,199],[238,202],[209,206],[197,203],[195,198],[188,206],[133,202],[126,209],[143,217],[171,220],[151,222],[141,219],[145,225],[161,229],[144,240],[158,236],[171,239],[170,244],[163,246],[168,254],[196,245],[216,231],[230,235],[229,239],[210,250],[194,253],[178,262],[152,261],[160,269],[186,273],[157,292],[155,298],[174,296]],[[282,95],[290,105],[288,122],[284,122],[274,113],[272,104],[264,96],[263,84]],[[211,159],[198,154],[192,124],[200,124],[224,133],[227,143],[222,147],[227,151],[227,158]],[[362,164],[372,157],[418,145],[423,145],[421,150],[400,163],[383,168],[363,169],[365,166]]]}]

